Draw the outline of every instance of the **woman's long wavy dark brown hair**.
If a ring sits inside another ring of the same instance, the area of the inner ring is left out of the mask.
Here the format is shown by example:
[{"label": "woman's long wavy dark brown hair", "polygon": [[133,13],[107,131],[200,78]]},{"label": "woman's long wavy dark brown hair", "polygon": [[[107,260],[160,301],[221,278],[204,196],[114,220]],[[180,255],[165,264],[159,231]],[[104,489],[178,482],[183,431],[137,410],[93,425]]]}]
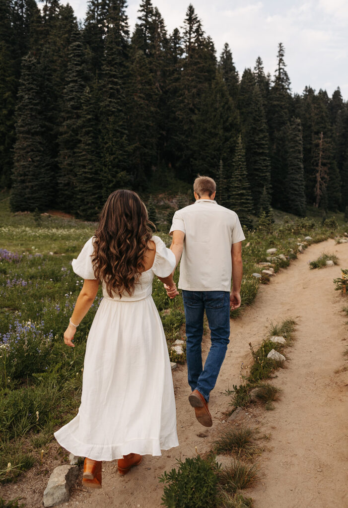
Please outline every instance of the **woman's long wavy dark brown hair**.
[{"label": "woman's long wavy dark brown hair", "polygon": [[132,190],[111,193],[94,234],[94,275],[106,284],[108,295],[133,294],[144,271],[144,254],[152,237],[152,223],[139,196]]}]

